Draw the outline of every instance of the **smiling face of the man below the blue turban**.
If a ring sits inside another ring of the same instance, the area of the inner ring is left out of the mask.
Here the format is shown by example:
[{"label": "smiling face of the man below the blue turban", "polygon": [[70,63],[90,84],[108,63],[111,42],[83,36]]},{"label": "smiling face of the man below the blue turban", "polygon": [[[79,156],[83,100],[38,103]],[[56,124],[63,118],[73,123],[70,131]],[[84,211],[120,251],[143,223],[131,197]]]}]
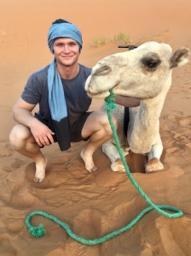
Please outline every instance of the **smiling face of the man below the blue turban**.
[{"label": "smiling face of the man below the blue turban", "polygon": [[77,41],[68,38],[55,39],[53,45],[57,63],[70,67],[78,62],[79,45]]}]

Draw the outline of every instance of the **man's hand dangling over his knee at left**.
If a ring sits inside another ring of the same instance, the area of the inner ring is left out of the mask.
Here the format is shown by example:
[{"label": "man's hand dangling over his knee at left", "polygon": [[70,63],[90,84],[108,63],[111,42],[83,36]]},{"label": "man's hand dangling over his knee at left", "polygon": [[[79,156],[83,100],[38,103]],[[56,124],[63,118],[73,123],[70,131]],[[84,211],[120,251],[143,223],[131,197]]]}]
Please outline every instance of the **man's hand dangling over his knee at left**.
[{"label": "man's hand dangling over his knee at left", "polygon": [[38,146],[49,146],[54,143],[52,135],[53,133],[43,122],[34,118],[30,124],[32,135],[38,143]]}]

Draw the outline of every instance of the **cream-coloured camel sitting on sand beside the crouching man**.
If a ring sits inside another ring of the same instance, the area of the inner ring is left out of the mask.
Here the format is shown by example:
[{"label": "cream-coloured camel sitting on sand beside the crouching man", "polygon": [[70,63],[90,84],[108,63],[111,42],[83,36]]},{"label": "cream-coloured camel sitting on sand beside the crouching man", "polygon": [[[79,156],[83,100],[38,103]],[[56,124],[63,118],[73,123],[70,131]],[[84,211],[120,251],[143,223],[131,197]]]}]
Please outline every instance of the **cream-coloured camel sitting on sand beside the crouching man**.
[{"label": "cream-coloured camel sitting on sand beside the crouching man", "polygon": [[[117,105],[113,115],[118,120],[117,133],[124,156],[129,150],[146,155],[146,173],[164,169],[159,160],[163,152],[159,116],[171,86],[172,68],[188,63],[189,56],[186,47],[173,53],[170,45],[147,42],[132,51],[104,57],[86,80],[85,90],[91,98],[106,98],[113,89],[116,95],[141,99],[139,107],[129,110],[127,139],[123,130],[124,106]],[[105,104],[101,109],[105,110]],[[113,138],[102,145],[102,151],[111,160],[113,171],[124,170]]]}]

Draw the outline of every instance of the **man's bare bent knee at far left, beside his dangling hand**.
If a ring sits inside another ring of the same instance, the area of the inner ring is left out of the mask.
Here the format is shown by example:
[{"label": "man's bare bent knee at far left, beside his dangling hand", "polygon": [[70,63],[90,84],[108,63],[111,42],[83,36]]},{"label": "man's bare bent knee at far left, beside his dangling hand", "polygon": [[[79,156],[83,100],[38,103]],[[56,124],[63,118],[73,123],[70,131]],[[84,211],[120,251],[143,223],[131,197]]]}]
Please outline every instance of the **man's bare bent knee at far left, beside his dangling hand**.
[{"label": "man's bare bent knee at far left, beside his dangling hand", "polygon": [[26,143],[26,140],[31,136],[31,131],[29,128],[26,128],[24,125],[17,124],[12,128],[9,134],[9,141],[11,146],[15,150],[20,149]]}]

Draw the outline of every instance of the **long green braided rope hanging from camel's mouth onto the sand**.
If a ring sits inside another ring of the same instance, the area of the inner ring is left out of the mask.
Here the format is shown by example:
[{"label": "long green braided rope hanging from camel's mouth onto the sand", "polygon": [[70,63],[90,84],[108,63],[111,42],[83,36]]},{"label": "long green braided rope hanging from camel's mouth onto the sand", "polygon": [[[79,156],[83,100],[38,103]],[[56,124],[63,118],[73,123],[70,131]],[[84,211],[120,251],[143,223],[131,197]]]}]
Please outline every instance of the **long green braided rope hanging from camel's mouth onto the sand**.
[{"label": "long green braided rope hanging from camel's mouth onto the sand", "polygon": [[[119,144],[119,140],[118,140],[118,135],[116,132],[116,129],[114,127],[113,124],[113,119],[112,119],[112,114],[111,114],[111,110],[113,110],[115,108],[115,99],[114,99],[114,94],[112,91],[110,91],[110,96],[105,98],[106,102],[107,102],[107,116],[108,116],[108,120],[109,123],[111,125],[111,128],[113,130],[113,138],[115,140],[116,146],[118,148],[119,151],[119,156],[124,164],[124,169],[125,172],[127,174],[127,176],[130,178],[130,182],[133,184],[133,186],[138,190],[139,193],[141,193],[142,197],[148,202],[148,205],[150,205],[148,208],[144,209],[141,213],[139,213],[129,224],[127,224],[126,226],[124,226],[121,229],[117,229],[107,235],[102,236],[101,238],[96,238],[96,239],[84,239],[83,237],[80,237],[76,234],[74,234],[72,232],[72,229],[70,228],[70,226],[67,223],[64,223],[62,221],[60,221],[57,217],[50,215],[49,213],[46,213],[44,211],[32,211],[32,213],[30,213],[27,217],[26,217],[26,227],[28,228],[29,232],[36,236],[36,237],[42,237],[43,235],[45,235],[46,230],[43,229],[43,224],[39,224],[38,227],[33,227],[31,224],[31,219],[34,215],[41,215],[43,217],[47,217],[50,220],[54,221],[55,223],[57,223],[58,225],[60,225],[63,229],[65,229],[67,231],[67,234],[69,236],[71,236],[74,240],[79,241],[80,243],[83,243],[85,245],[96,245],[96,244],[100,244],[103,241],[107,241],[111,238],[113,238],[116,235],[119,235],[125,231],[127,231],[128,229],[132,228],[148,211],[152,211],[153,209],[158,211],[161,215],[165,216],[165,217],[181,217],[183,215],[182,211],[180,211],[179,209],[173,207],[173,206],[169,206],[169,205],[154,205],[153,202],[151,201],[151,199],[148,198],[147,194],[143,192],[142,188],[139,187],[139,185],[135,182],[135,180],[133,179],[133,176],[130,174],[130,170],[126,164],[125,158],[124,158],[124,154],[121,150],[120,144]],[[168,211],[174,211],[176,213],[169,213],[163,210],[168,210]]]}]

